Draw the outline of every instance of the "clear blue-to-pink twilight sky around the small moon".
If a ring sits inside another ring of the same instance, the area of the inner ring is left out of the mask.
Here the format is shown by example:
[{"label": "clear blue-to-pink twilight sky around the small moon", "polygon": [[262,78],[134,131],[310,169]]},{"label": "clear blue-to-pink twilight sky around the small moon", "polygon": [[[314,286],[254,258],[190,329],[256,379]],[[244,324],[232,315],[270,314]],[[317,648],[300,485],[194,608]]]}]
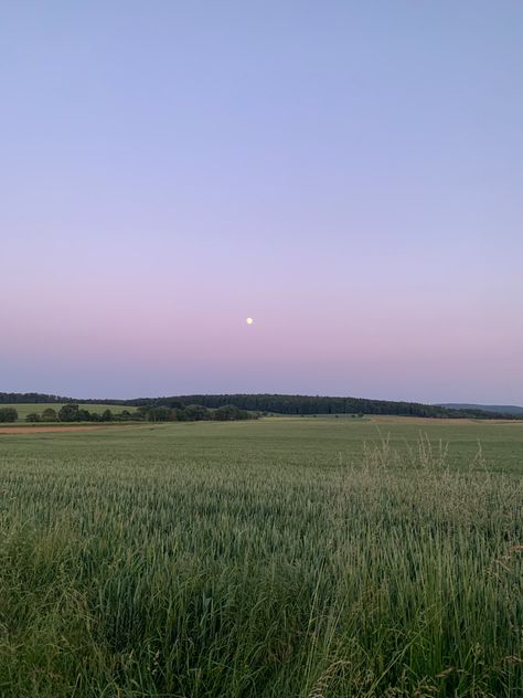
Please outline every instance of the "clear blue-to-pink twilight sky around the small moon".
[{"label": "clear blue-to-pink twilight sky around the small moon", "polygon": [[520,0],[1,3],[0,391],[523,404],[522,34]]}]

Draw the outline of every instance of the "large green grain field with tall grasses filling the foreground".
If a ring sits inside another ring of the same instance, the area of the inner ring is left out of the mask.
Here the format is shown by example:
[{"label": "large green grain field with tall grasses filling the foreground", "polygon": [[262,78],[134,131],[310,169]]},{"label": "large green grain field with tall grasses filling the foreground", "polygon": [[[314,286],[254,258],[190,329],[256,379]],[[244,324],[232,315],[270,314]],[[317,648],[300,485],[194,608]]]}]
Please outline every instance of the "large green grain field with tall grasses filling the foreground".
[{"label": "large green grain field with tall grasses filling the foreground", "polygon": [[519,423],[0,430],[0,695],[521,696],[522,474]]}]

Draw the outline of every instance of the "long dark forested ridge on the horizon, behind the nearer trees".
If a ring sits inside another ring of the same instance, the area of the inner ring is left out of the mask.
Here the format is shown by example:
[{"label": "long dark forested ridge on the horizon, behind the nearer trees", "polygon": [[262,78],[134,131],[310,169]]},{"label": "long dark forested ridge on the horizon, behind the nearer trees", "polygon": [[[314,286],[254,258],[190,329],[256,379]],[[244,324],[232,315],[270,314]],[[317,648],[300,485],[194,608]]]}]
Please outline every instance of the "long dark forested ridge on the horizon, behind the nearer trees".
[{"label": "long dark forested ridge on the horizon, behind the nearer trees", "polygon": [[226,394],[226,395],[173,395],[170,398],[137,398],[135,400],[79,400],[61,395],[42,393],[4,393],[0,392],[1,404],[22,403],[82,403],[82,404],[117,404],[136,408],[181,409],[186,405],[202,405],[217,409],[234,405],[239,410],[248,410],[267,414],[395,414],[399,416],[426,416],[434,419],[504,419],[517,420],[523,415],[489,412],[480,409],[452,409],[440,405],[428,405],[418,402],[396,402],[392,400],[367,400],[364,398],[323,398],[313,395],[278,395],[278,394]]}]

